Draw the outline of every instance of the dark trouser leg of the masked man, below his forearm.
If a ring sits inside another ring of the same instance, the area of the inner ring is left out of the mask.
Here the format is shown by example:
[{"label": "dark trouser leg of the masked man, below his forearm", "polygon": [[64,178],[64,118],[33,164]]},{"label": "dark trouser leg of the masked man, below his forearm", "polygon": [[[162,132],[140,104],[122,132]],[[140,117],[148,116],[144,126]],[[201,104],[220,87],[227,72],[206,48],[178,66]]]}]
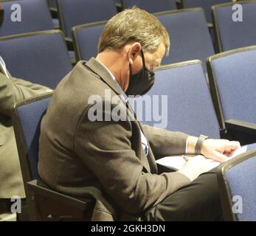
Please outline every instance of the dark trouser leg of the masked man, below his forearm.
[{"label": "dark trouser leg of the masked man, below his forearm", "polygon": [[144,221],[221,221],[221,200],[214,170],[194,181],[145,213]]}]

